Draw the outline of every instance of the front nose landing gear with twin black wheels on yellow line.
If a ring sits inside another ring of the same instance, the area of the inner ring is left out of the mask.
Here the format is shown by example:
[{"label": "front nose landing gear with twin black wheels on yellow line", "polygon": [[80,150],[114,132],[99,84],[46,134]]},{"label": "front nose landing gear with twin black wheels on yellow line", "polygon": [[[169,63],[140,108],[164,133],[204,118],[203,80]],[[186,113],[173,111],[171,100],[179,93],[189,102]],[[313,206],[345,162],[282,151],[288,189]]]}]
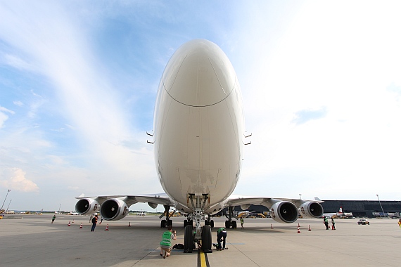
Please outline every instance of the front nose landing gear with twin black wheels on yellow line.
[{"label": "front nose landing gear with twin black wheels on yellow line", "polygon": [[[211,228],[215,226],[215,222],[210,220],[210,216],[207,216],[208,219],[206,219],[206,214],[203,212],[208,199],[208,194],[188,195],[188,204],[191,201],[193,214],[189,214],[188,219],[184,221],[184,253],[192,253],[195,243],[201,245],[203,252],[212,253]],[[205,226],[203,227],[200,226],[201,220],[205,220]],[[195,227],[193,227],[193,221],[195,221]]]}]

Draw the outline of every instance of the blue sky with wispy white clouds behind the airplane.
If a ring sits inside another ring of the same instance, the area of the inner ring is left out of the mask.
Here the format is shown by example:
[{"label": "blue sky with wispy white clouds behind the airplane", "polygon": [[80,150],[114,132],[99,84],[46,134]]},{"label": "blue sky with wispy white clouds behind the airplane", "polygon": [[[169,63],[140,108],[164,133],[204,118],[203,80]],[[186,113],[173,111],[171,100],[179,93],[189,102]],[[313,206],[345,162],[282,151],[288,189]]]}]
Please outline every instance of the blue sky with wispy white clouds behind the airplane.
[{"label": "blue sky with wispy white clouds behind the airplane", "polygon": [[[400,200],[398,1],[0,1],[0,200],[163,192],[155,93],[184,42],[234,65],[247,131],[241,195]],[[148,209],[136,204],[131,209]]]}]

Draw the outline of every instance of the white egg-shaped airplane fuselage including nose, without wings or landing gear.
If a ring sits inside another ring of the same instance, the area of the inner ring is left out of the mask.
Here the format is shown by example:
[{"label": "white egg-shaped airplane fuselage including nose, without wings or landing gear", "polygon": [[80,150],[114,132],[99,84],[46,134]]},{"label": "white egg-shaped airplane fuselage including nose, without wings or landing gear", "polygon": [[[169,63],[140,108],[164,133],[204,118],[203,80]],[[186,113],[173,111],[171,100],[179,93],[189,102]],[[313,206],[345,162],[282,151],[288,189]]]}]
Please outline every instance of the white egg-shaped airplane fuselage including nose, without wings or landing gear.
[{"label": "white egg-shaped airplane fuselage including nose, without wings or landing gear", "polygon": [[160,79],[155,104],[155,164],[160,183],[187,206],[188,194],[225,200],[241,174],[241,91],[224,52],[196,39],[178,48]]}]

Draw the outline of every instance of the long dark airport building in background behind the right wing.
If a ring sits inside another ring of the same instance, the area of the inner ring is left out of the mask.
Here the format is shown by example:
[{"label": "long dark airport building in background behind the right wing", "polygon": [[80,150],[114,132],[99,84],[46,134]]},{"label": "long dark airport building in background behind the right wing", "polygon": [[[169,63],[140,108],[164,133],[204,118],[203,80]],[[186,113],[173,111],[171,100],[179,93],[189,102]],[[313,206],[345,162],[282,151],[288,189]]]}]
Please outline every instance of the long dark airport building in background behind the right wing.
[{"label": "long dark airport building in background behind the right wing", "polygon": [[[324,213],[337,212],[343,207],[344,212],[352,212],[355,217],[374,218],[378,214],[385,216],[389,213],[401,212],[401,201],[380,201],[378,200],[324,200],[322,203]],[[382,209],[383,208],[383,209]],[[234,211],[241,211],[241,207],[235,207]],[[263,213],[269,211],[267,207],[262,205],[250,205],[249,211]],[[223,214],[227,209],[223,209]],[[383,214],[384,211],[384,214]],[[380,215],[379,215],[380,216]]]}]

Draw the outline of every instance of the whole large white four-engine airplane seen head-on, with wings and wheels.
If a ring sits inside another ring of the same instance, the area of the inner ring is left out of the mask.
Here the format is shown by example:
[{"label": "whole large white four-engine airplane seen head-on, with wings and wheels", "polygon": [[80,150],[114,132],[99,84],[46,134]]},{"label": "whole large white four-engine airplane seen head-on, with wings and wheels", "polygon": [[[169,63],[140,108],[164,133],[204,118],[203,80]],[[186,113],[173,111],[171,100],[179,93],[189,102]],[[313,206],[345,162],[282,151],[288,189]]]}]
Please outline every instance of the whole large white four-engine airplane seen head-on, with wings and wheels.
[{"label": "whole large white four-engine airplane seen head-on, with wings and wheels", "polygon": [[[165,207],[160,227],[172,226],[170,207],[187,214],[184,253],[196,242],[212,252],[211,219],[228,208],[225,228],[236,228],[234,207],[262,204],[275,221],[293,223],[298,210],[320,218],[319,201],[233,195],[241,176],[243,150],[252,134],[245,131],[241,89],[234,67],[217,44],[194,39],[182,44],[168,61],[155,101],[153,134],[155,169],[165,193],[76,197],[79,214],[100,210],[105,220],[120,220],[129,207],[147,202]],[[161,218],[160,218],[161,219]],[[201,222],[204,225],[201,226]],[[193,227],[193,223],[195,226]]]}]

